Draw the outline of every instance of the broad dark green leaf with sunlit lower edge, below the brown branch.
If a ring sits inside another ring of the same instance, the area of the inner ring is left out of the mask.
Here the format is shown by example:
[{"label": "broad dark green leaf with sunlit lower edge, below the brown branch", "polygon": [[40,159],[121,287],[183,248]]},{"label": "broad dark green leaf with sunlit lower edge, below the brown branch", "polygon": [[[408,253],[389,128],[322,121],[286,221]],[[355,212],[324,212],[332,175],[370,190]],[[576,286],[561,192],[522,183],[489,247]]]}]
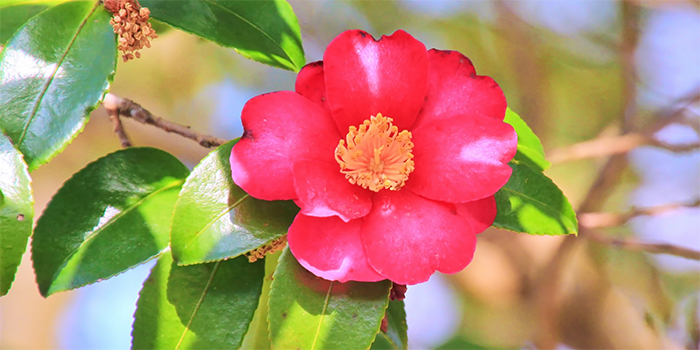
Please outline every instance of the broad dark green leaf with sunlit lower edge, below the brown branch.
[{"label": "broad dark green leaf with sunlit lower edge, below the brown branch", "polygon": [[165,249],[188,172],[166,152],[129,148],[74,174],[34,230],[32,258],[41,294],[112,277]]}]

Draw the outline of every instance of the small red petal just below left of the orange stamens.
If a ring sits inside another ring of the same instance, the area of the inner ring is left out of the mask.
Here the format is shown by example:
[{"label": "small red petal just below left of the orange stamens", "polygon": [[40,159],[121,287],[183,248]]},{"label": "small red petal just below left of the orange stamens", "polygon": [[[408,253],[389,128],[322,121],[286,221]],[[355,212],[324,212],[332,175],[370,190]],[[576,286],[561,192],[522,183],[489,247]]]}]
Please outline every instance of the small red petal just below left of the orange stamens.
[{"label": "small red petal just below left of the orange stamens", "polygon": [[361,218],[372,208],[369,191],[351,184],[333,162],[303,159],[294,163],[297,205],[307,216],[339,216],[347,222]]}]

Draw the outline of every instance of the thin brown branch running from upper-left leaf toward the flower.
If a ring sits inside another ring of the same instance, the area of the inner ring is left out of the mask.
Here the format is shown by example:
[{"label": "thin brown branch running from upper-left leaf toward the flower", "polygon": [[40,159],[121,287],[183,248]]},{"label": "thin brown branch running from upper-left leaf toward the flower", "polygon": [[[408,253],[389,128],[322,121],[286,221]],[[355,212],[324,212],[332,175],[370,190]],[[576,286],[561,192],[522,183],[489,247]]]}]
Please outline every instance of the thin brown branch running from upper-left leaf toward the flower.
[{"label": "thin brown branch running from upper-left leaf toward the flower", "polygon": [[141,105],[139,105],[138,103],[127,98],[120,98],[113,94],[107,94],[107,96],[105,97],[105,102],[108,99],[115,101],[114,103],[117,106],[117,111],[119,115],[134,119],[141,124],[153,125],[166,132],[186,137],[190,140],[196,141],[202,147],[217,147],[227,142],[226,140],[220,139],[215,136],[200,134],[190,129],[189,126],[180,125],[165,120],[161,117],[156,117],[147,109],[141,107]]}]

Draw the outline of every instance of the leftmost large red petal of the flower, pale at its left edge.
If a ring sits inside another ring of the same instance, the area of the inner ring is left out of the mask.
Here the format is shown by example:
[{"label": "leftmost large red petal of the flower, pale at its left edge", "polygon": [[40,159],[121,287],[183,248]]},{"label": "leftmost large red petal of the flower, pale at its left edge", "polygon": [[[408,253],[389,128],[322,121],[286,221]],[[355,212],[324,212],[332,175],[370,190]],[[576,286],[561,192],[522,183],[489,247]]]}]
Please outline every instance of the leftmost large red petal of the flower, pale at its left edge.
[{"label": "leftmost large red petal of the flower, pale at its left edge", "polygon": [[340,140],[328,112],[292,91],[252,98],[241,119],[245,132],[231,152],[231,174],[258,199],[296,198],[293,162],[333,159]]}]

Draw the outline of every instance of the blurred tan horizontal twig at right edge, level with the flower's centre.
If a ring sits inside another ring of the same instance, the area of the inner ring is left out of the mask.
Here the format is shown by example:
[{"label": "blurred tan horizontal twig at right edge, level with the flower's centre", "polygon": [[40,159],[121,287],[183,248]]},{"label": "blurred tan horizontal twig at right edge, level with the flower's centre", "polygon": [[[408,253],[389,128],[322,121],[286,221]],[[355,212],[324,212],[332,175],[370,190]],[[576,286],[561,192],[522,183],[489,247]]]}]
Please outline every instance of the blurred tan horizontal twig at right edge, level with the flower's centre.
[{"label": "blurred tan horizontal twig at right edge, level with the flower's centre", "polygon": [[631,133],[615,137],[593,139],[566,148],[555,149],[549,153],[548,160],[552,163],[562,163],[586,158],[607,157],[613,154],[627,153],[644,145],[663,148],[675,153],[690,152],[700,149],[700,143],[672,145],[658,141],[650,135]]}]

